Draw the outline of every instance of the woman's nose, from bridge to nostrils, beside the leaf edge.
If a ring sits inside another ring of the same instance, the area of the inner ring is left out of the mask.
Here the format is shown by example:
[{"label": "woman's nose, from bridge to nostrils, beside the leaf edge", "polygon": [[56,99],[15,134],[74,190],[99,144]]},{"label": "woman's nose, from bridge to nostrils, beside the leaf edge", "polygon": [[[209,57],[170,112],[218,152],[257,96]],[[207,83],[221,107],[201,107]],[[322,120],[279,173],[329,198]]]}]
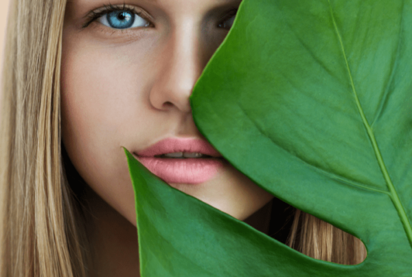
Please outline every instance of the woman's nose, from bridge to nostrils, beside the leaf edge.
[{"label": "woman's nose, from bridge to nostrils, beside the leaf edge", "polygon": [[201,47],[198,28],[188,21],[170,30],[159,56],[157,77],[150,89],[152,107],[162,111],[178,109],[191,113],[189,97],[202,73]]}]

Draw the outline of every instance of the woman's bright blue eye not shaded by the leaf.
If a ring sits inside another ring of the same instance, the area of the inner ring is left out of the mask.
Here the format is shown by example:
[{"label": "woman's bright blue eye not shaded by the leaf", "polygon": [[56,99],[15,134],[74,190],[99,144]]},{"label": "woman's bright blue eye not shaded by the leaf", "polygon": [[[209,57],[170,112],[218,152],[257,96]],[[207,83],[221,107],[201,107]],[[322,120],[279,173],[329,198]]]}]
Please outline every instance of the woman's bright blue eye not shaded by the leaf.
[{"label": "woman's bright blue eye not shaded by the leaf", "polygon": [[101,16],[98,21],[113,29],[129,29],[134,27],[147,27],[149,22],[141,16],[128,10],[115,10]]}]

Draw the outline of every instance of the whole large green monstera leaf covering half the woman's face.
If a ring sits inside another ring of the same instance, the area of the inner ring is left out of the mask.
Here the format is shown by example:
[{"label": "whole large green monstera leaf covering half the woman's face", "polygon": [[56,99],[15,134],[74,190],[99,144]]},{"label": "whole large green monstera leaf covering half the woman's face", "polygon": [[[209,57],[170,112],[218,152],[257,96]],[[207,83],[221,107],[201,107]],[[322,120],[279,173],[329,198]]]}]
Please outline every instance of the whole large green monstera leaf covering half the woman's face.
[{"label": "whole large green monstera leaf covering half the woman's face", "polygon": [[244,0],[191,104],[233,166],[367,258],[304,256],[126,152],[142,276],[412,276],[412,0]]}]

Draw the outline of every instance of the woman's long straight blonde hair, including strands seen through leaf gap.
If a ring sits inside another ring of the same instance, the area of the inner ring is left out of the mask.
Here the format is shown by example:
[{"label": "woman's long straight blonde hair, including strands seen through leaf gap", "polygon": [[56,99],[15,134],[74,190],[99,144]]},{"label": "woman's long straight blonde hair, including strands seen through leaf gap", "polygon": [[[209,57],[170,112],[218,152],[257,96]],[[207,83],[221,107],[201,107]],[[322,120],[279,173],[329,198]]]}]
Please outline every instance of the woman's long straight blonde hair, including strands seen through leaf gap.
[{"label": "woman's long straight blonde hair, including strands seen through leaf gap", "polygon": [[[0,130],[3,277],[87,276],[84,226],[65,175],[60,140],[66,1],[15,0],[10,6]],[[361,261],[356,255],[363,252],[359,243],[350,242],[352,236],[301,212],[290,238],[290,246],[314,258]],[[352,254],[347,258],[345,253]]]}]

